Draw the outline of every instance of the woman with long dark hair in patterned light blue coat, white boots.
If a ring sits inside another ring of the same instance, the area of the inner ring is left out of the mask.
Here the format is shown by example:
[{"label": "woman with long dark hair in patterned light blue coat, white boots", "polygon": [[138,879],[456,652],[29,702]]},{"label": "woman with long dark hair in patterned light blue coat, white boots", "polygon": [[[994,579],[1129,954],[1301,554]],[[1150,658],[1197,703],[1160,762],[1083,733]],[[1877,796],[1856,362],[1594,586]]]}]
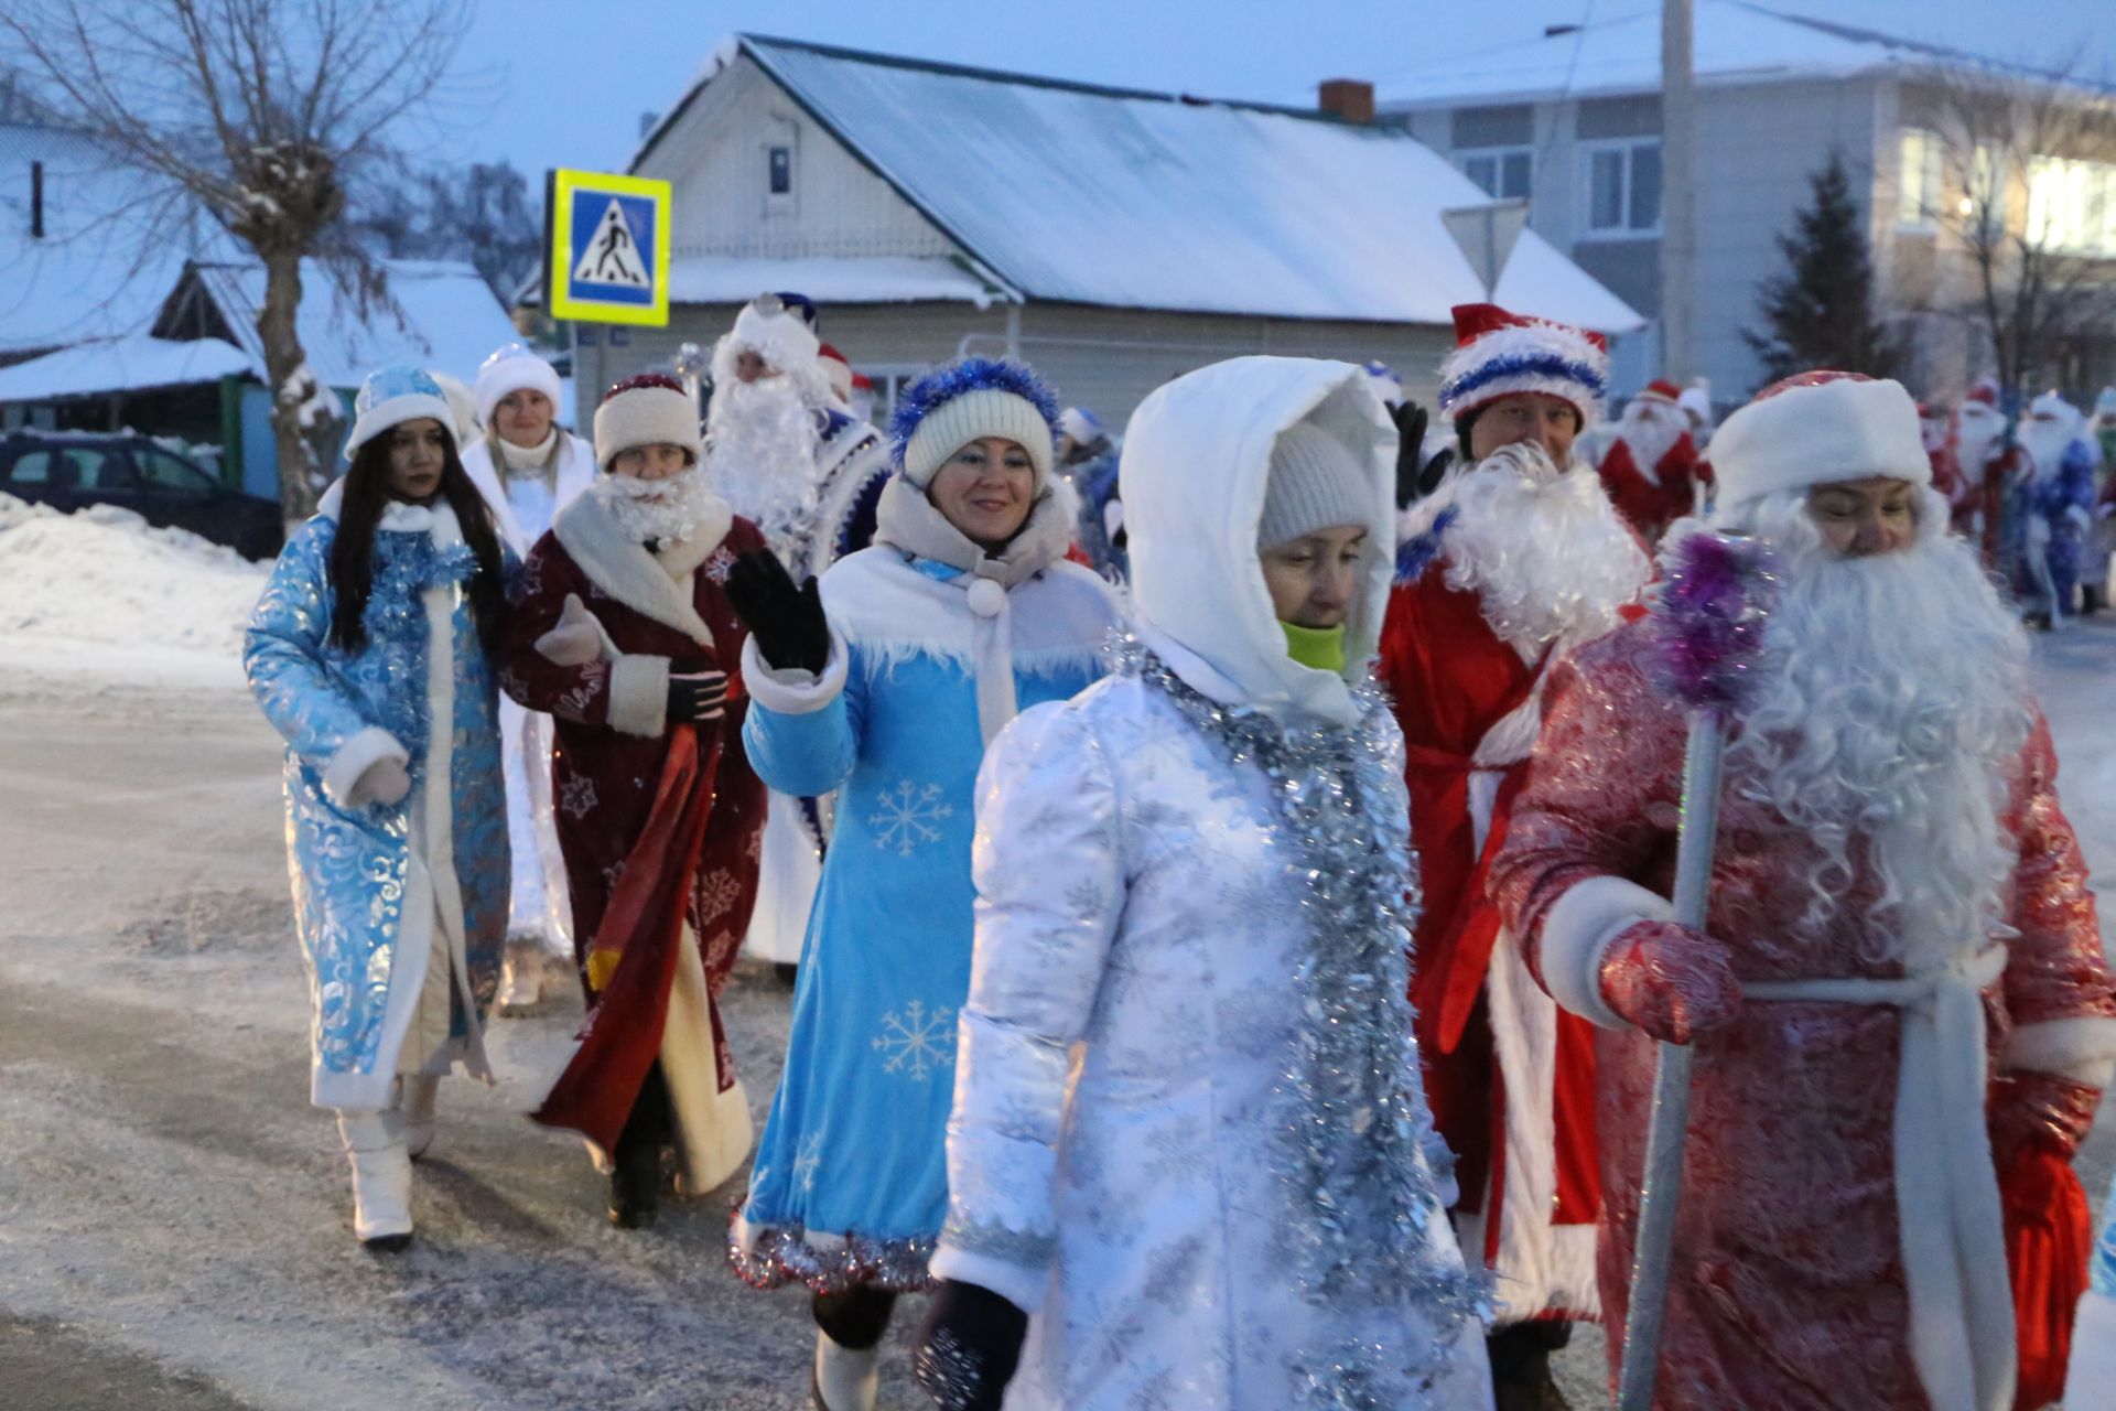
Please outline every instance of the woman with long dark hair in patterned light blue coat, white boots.
[{"label": "woman with long dark hair in patterned light blue coat, white boots", "polygon": [[279,554],[243,668],[286,736],[309,1098],[336,1108],[353,1231],[398,1250],[440,1075],[491,1079],[508,924],[491,660],[512,561],[432,377],[385,368],[353,406],[351,470]]}]

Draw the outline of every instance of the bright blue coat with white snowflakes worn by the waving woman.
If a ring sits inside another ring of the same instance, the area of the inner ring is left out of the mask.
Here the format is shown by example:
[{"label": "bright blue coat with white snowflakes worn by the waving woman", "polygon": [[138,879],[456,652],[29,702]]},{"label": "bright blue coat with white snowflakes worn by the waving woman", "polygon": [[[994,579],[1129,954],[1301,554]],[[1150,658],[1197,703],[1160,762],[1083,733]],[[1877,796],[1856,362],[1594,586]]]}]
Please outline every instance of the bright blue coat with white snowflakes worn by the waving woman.
[{"label": "bright blue coat with white snowflakes worn by the waving woman", "polygon": [[[1117,609],[1094,573],[1054,563],[1005,597],[1016,709],[1102,675]],[[760,1286],[923,1288],[948,1210],[956,1011],[975,933],[975,664],[992,660],[990,626],[954,569],[884,546],[832,567],[823,603],[834,649],[821,679],[745,656],[751,764],[781,793],[834,795],[834,810],[732,1257]]]}]

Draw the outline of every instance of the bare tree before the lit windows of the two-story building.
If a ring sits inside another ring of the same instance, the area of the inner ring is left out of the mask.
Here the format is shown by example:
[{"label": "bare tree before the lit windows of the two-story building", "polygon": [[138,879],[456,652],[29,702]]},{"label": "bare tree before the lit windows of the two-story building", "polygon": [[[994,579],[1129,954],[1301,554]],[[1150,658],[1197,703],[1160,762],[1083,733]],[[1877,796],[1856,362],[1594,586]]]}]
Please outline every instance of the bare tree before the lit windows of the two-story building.
[{"label": "bare tree before the lit windows of the two-story building", "polygon": [[1907,180],[1955,262],[1932,309],[1976,330],[2002,387],[2063,381],[2076,347],[2116,338],[2116,226],[2086,190],[2116,161],[2112,91],[2065,61],[1940,70],[1917,99],[1936,150]]}]

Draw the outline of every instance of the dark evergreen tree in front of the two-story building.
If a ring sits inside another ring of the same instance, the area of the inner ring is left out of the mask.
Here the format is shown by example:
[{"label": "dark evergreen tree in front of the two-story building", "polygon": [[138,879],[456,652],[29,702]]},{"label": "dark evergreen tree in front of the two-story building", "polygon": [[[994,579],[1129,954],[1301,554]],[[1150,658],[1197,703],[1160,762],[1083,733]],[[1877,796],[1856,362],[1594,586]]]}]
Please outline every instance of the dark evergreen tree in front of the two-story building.
[{"label": "dark evergreen tree in front of the two-story building", "polygon": [[1788,271],[1758,288],[1765,330],[1741,336],[1763,358],[1769,381],[1809,368],[1890,377],[1902,364],[1902,349],[1875,317],[1873,254],[1852,201],[1852,178],[1830,152],[1828,165],[1807,180],[1811,203],[1794,216],[1792,233],[1777,237]]}]

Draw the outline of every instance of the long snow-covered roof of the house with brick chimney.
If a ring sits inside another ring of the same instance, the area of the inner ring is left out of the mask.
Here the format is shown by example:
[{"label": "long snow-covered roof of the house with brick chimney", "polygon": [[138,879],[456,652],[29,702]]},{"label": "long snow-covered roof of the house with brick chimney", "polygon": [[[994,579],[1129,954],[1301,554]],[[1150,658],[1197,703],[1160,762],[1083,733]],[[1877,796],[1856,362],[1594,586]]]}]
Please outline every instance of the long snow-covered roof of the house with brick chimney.
[{"label": "long snow-covered roof of the house with brick chimney", "polygon": [[[1441,212],[1488,197],[1397,125],[755,36],[736,53],[1024,298],[1397,324],[1485,298]],[[1644,322],[1534,233],[1496,298],[1606,332]]]}]

